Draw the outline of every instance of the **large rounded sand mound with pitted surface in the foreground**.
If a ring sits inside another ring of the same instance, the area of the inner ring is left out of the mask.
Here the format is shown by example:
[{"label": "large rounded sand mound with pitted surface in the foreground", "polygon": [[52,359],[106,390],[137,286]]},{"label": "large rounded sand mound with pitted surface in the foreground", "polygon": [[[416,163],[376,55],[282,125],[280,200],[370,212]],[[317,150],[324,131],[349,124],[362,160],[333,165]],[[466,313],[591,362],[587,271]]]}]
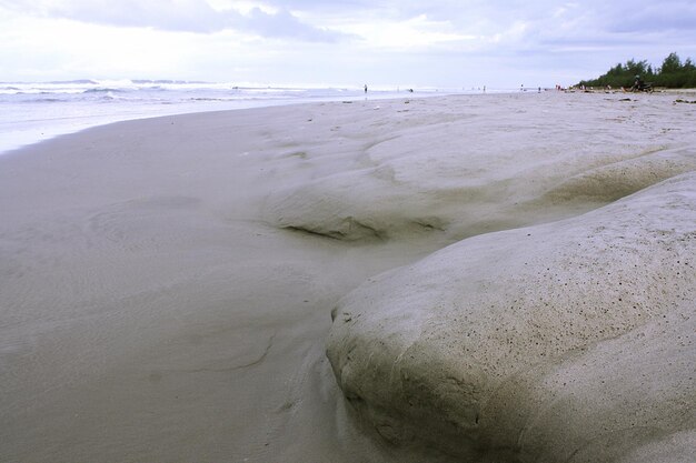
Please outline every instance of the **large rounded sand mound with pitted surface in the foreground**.
[{"label": "large rounded sand mound with pitted surface in the foreground", "polygon": [[694,191],[680,175],[367,281],[334,311],[344,394],[388,441],[459,457],[678,460],[696,444]]}]

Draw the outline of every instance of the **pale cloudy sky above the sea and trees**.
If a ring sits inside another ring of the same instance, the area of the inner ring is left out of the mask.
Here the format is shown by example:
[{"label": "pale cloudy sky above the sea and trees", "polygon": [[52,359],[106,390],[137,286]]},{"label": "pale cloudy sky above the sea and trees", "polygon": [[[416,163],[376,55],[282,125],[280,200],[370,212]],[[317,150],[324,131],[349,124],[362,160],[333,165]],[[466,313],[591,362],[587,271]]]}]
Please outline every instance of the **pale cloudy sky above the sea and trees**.
[{"label": "pale cloudy sky above the sea and trees", "polygon": [[569,85],[696,59],[695,0],[0,0],[0,81]]}]

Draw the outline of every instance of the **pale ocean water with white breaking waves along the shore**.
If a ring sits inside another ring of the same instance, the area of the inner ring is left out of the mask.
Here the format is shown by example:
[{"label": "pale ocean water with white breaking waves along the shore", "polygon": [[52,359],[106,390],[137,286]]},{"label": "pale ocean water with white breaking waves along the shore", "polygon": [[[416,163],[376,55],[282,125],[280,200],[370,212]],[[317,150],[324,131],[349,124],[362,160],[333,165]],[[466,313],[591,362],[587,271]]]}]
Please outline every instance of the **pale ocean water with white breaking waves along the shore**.
[{"label": "pale ocean water with white breaking waves along the shore", "polygon": [[95,125],[179,113],[478,90],[239,87],[175,80],[0,82],[0,154]]}]

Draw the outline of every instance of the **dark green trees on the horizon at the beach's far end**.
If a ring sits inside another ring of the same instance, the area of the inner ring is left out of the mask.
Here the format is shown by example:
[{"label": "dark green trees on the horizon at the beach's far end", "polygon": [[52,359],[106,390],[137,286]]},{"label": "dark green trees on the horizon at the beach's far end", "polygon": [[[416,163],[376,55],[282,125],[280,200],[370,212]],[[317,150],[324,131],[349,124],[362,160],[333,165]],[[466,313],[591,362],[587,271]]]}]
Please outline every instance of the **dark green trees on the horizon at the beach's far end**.
[{"label": "dark green trees on the horizon at the beach's far end", "polygon": [[644,82],[650,82],[653,87],[666,87],[668,89],[696,88],[696,66],[687,58],[684,62],[677,53],[669,53],[663,61],[663,66],[653,69],[646,60],[628,60],[625,64],[618,63],[609,69],[606,74],[594,80],[583,80],[578,85],[585,87],[630,87],[640,76]]}]

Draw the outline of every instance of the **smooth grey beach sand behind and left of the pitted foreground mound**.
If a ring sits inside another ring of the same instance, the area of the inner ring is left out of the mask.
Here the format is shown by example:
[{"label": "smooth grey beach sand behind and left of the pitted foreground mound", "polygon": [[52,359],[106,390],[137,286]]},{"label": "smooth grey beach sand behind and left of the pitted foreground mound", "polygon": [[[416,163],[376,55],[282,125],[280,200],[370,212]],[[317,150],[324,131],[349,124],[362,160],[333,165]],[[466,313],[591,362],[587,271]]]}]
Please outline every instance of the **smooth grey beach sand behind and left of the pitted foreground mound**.
[{"label": "smooth grey beach sand behind and left of the pitted foreground mound", "polygon": [[[0,461],[445,459],[356,419],[325,356],[331,309],[465,238],[696,170],[696,105],[624,98],[190,114],[0,157]],[[404,316],[438,293],[394,291],[377,309]]]}]

